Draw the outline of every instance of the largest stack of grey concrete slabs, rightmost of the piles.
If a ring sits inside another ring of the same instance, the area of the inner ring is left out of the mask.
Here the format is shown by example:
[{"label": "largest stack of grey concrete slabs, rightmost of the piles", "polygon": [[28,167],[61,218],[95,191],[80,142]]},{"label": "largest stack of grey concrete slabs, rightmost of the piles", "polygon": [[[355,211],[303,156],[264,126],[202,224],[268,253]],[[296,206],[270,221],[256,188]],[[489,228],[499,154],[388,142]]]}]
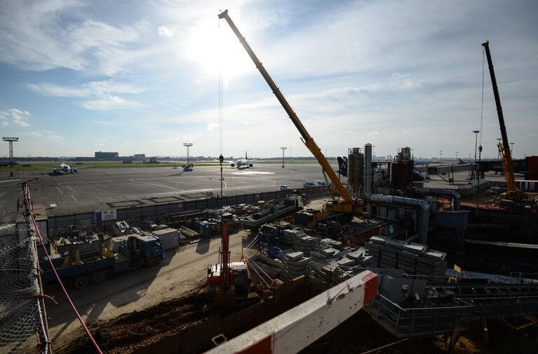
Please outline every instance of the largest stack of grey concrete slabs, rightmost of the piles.
[{"label": "largest stack of grey concrete slabs, rightmost of the piles", "polygon": [[446,253],[429,250],[426,245],[372,236],[364,247],[375,257],[375,266],[379,268],[403,269],[410,274],[426,275],[424,278],[429,280],[445,275]]}]

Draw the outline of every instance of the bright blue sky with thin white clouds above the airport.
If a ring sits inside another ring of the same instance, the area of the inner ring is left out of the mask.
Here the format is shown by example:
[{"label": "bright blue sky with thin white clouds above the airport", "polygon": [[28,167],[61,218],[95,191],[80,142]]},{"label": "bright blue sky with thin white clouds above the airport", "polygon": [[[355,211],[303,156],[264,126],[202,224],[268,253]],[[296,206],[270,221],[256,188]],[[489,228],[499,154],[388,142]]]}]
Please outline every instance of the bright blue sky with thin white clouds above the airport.
[{"label": "bright blue sky with thin white clouds above the airport", "polygon": [[538,155],[533,0],[0,1],[0,135],[15,156],[310,156],[224,9],[323,154],[466,158],[482,116],[496,157],[489,40],[513,153]]}]

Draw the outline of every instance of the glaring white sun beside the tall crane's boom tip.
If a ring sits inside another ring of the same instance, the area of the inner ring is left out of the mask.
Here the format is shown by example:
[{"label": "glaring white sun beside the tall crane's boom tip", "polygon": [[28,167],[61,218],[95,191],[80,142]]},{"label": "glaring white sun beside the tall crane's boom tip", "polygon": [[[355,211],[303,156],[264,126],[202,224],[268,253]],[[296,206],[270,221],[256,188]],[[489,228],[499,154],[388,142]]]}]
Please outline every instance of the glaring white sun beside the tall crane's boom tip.
[{"label": "glaring white sun beside the tall crane's boom tip", "polygon": [[208,76],[221,73],[229,80],[255,69],[234,32],[223,20],[219,24],[216,20],[205,21],[191,27],[186,50],[189,60],[199,64]]}]

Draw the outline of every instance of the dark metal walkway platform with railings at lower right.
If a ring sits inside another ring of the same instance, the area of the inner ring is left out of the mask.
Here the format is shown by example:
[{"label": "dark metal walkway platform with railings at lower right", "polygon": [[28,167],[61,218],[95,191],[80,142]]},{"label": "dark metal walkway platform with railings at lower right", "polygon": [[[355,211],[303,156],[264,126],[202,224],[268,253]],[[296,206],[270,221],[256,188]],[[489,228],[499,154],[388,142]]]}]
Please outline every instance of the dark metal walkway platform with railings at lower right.
[{"label": "dark metal walkway platform with railings at lower right", "polygon": [[501,277],[475,282],[429,285],[425,299],[397,304],[377,294],[365,311],[398,338],[452,334],[471,322],[538,313],[538,281]]}]

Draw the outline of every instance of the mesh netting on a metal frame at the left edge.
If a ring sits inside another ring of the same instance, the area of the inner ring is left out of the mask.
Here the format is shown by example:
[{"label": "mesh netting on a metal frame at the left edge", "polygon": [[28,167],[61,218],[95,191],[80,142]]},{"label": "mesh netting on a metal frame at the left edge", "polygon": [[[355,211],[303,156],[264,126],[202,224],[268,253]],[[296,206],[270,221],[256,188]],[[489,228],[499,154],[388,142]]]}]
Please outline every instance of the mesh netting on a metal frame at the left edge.
[{"label": "mesh netting on a metal frame at the left edge", "polygon": [[[16,215],[16,196],[1,207],[9,202]],[[22,229],[29,231],[19,240],[13,210],[8,212],[0,224],[0,353],[49,353],[33,226],[25,222]]]}]

